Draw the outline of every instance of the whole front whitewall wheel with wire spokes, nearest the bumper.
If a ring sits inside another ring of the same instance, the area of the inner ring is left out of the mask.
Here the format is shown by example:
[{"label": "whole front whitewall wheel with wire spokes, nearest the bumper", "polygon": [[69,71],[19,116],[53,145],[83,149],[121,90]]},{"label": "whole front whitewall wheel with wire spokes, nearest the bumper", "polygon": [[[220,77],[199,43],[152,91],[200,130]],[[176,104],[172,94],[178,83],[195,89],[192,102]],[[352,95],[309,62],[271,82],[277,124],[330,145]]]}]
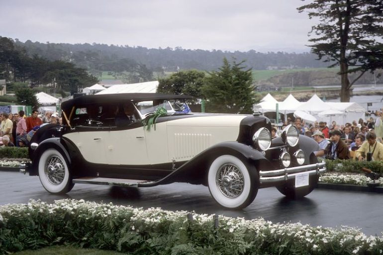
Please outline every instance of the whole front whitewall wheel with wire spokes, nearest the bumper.
[{"label": "whole front whitewall wheel with wire spokes, nearest the bumper", "polygon": [[232,155],[222,155],[211,163],[207,181],[214,200],[230,209],[251,204],[259,188],[255,167]]}]

